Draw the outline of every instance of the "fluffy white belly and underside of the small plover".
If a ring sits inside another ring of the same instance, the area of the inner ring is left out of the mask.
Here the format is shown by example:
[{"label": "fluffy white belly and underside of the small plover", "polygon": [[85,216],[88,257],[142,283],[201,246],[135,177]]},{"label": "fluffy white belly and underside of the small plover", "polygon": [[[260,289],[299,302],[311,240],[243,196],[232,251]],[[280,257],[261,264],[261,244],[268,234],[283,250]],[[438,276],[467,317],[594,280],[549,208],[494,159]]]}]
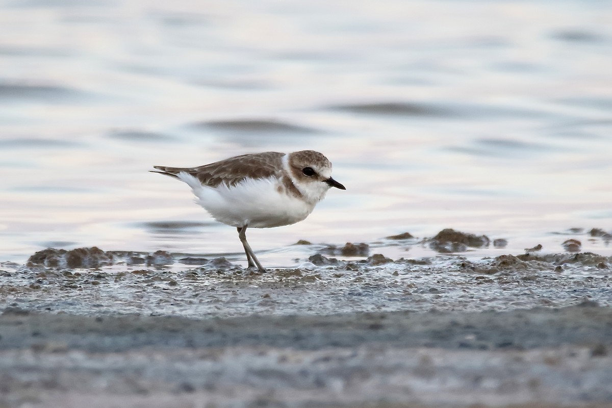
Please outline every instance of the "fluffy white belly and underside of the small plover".
[{"label": "fluffy white belly and underside of the small plover", "polygon": [[206,187],[186,173],[178,175],[187,183],[200,204],[215,220],[234,227],[271,228],[304,220],[315,204],[279,193],[278,181],[245,179],[234,187]]}]

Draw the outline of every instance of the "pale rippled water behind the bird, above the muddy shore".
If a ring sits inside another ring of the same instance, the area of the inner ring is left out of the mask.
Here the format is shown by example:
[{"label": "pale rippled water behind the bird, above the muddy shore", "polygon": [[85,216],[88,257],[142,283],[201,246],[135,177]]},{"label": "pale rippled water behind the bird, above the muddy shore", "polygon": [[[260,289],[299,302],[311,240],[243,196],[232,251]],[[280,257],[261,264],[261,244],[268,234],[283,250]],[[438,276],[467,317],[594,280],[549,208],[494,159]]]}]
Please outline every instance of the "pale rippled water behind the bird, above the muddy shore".
[{"label": "pale rippled water behind the bird, above the muddy shore", "polygon": [[610,1],[1,0],[0,260],[241,259],[147,171],[302,149],[347,190],[251,230],[267,264],[312,254],[298,239],[419,256],[380,239],[442,228],[561,251],[612,229],[611,67]]}]

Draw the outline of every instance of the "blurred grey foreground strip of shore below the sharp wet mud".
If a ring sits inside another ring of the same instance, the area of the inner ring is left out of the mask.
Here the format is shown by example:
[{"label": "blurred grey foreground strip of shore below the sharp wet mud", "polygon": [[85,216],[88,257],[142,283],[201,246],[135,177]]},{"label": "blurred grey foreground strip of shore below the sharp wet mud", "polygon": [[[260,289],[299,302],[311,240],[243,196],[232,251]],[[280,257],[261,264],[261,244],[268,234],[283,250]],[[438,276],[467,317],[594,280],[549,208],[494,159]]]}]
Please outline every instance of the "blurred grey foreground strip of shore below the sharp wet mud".
[{"label": "blurred grey foreground strip of shore below the sharp wet mud", "polygon": [[612,308],[0,316],[0,407],[612,406]]}]

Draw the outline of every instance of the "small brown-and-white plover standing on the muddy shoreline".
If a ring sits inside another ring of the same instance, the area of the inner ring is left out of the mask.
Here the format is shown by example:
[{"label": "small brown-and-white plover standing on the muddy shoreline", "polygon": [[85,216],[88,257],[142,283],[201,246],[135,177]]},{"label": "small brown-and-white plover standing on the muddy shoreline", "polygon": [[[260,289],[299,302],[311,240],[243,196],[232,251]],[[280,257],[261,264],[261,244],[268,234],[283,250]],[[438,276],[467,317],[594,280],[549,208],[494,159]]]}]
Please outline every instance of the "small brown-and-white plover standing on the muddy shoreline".
[{"label": "small brown-and-white plover standing on the muddy shoreline", "polygon": [[305,220],[332,188],[332,163],[319,152],[243,154],[197,167],[153,166],[151,172],[191,187],[196,204],[215,220],[233,226],[248,268],[266,272],[247,242],[247,228],[273,228]]}]

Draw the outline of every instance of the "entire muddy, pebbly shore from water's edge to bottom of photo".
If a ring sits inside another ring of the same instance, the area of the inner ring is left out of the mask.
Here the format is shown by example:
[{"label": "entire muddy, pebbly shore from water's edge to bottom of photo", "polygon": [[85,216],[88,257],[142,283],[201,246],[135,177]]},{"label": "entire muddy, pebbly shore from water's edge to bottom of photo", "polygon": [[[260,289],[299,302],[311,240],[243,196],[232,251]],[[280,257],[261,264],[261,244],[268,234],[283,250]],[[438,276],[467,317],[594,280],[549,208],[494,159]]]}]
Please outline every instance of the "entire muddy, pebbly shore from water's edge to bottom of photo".
[{"label": "entire muddy, pebbly shore from water's edge to bottom of photo", "polygon": [[0,408],[612,406],[612,259],[466,256],[487,240],[447,232],[430,258],[347,244],[267,273],[98,248],[2,262]]}]

